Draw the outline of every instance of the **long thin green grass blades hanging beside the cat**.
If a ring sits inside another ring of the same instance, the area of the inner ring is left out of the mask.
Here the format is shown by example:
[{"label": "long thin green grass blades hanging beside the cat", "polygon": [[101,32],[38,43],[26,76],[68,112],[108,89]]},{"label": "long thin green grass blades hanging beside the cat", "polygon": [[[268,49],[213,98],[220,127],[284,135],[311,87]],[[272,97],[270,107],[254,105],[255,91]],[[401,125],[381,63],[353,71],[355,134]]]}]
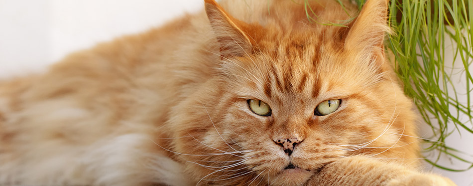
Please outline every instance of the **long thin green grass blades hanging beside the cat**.
[{"label": "long thin green grass blades hanging beside the cat", "polygon": [[[392,0],[389,22],[394,34],[386,47],[395,55],[404,92],[414,100],[424,124],[425,161],[449,171],[466,171],[472,158],[445,143],[450,135],[473,135],[471,95],[473,42],[471,0]],[[468,163],[467,168],[439,164],[441,156]]]}]

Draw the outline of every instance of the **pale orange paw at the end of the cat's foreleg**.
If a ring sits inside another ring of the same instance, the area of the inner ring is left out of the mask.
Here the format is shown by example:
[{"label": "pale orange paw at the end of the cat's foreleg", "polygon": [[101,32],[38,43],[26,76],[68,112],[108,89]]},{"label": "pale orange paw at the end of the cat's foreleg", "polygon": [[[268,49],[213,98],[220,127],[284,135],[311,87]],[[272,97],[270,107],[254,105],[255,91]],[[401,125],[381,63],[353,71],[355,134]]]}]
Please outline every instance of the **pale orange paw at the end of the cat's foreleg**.
[{"label": "pale orange paw at the end of the cat's foreleg", "polygon": [[456,186],[450,179],[432,174],[411,174],[391,180],[387,186]]}]

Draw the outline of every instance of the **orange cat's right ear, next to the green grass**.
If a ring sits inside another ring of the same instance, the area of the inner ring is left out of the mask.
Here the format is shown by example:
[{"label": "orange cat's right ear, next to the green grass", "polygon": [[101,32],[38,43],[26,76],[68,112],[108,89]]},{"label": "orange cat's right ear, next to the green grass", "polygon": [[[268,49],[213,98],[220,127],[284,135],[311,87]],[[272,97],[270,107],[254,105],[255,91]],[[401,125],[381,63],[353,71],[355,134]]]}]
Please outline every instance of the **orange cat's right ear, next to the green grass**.
[{"label": "orange cat's right ear, next to the green grass", "polygon": [[[366,54],[384,56],[384,34],[389,31],[387,25],[388,0],[367,0],[355,19],[345,40],[345,47]],[[368,57],[368,56],[366,56]]]}]

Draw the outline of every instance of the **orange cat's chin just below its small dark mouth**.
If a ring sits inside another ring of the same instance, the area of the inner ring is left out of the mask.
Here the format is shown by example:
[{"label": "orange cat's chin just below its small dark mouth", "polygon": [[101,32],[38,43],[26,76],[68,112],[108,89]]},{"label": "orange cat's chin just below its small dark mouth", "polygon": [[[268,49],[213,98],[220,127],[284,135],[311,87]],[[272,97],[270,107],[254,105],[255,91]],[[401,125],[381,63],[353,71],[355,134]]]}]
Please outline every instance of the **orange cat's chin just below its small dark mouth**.
[{"label": "orange cat's chin just below its small dark mouth", "polygon": [[276,186],[303,186],[315,173],[314,170],[308,171],[301,168],[285,169],[275,178],[270,178],[270,182],[271,185]]}]

